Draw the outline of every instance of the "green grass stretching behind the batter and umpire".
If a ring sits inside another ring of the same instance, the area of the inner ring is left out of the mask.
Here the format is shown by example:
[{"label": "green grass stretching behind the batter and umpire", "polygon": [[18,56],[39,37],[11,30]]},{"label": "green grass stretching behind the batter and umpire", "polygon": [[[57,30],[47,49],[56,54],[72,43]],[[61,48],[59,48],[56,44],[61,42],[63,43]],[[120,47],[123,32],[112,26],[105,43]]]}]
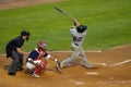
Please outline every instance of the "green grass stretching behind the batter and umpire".
[{"label": "green grass stretching behind the batter and umpire", "polygon": [[131,44],[131,0],[67,0],[0,11],[0,53],[9,40],[25,29],[32,36],[24,50],[46,40],[49,50],[71,50],[70,18],[58,13],[58,5],[88,26],[84,50],[107,50]]}]

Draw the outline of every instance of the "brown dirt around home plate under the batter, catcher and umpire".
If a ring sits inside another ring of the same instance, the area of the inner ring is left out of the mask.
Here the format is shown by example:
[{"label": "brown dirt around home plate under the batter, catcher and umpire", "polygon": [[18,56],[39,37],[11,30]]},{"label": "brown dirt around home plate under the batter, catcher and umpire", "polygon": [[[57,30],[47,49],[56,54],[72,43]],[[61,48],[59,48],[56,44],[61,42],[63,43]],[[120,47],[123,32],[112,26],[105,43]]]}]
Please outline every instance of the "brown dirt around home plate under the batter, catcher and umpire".
[{"label": "brown dirt around home plate under the batter, catcher and umpire", "polygon": [[[50,52],[62,61],[71,52]],[[86,52],[88,60],[97,69],[85,69],[81,60],[76,64],[57,73],[55,63],[48,61],[47,70],[40,78],[33,78],[24,71],[9,76],[4,66],[11,59],[0,55],[0,87],[130,87],[131,86],[131,45],[104,52]],[[26,58],[25,55],[24,58]],[[7,84],[8,83],[8,84]]]}]

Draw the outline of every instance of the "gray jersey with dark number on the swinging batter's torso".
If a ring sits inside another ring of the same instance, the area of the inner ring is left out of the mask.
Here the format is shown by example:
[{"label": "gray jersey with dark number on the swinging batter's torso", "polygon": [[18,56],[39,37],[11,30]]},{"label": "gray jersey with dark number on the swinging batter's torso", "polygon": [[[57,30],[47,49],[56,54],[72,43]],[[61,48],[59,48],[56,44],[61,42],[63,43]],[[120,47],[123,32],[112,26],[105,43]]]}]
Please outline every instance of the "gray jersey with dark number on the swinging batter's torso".
[{"label": "gray jersey with dark number on the swinging batter's torso", "polygon": [[84,33],[78,33],[76,28],[71,28],[70,33],[71,33],[71,36],[72,36],[72,42],[76,44],[79,46],[82,46],[87,30],[85,30]]}]

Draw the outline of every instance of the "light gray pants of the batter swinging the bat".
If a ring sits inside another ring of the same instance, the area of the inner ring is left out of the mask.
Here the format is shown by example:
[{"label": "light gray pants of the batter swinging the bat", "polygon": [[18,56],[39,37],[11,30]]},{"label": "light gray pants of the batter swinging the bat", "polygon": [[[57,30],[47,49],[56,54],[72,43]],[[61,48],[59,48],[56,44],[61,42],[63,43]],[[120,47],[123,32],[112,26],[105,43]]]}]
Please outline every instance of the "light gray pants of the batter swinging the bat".
[{"label": "light gray pants of the batter swinging the bat", "polygon": [[82,61],[83,61],[83,65],[85,67],[92,67],[92,64],[88,62],[84,51],[83,51],[83,48],[82,48],[82,45],[75,45],[72,42],[72,55],[66,60],[62,61],[62,66],[67,66],[69,65],[70,63],[74,62],[76,57],[81,57]]}]

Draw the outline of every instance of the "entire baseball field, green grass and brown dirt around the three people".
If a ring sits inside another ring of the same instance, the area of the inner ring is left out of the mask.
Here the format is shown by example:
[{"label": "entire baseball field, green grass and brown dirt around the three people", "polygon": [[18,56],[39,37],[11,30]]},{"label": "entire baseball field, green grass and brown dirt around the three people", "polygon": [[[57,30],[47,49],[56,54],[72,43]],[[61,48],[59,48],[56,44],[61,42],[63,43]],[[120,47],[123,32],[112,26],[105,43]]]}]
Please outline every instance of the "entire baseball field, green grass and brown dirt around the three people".
[{"label": "entire baseball field, green grass and brown dirt around the three people", "polygon": [[[29,52],[45,40],[49,53],[60,61],[71,54],[72,21],[58,13],[56,5],[88,26],[83,48],[96,69],[83,67],[79,58],[62,73],[48,61],[40,78],[25,71],[9,76],[11,59],[5,58],[4,47],[23,29],[32,34],[23,50]],[[0,87],[130,87],[130,0],[0,0]]]}]

